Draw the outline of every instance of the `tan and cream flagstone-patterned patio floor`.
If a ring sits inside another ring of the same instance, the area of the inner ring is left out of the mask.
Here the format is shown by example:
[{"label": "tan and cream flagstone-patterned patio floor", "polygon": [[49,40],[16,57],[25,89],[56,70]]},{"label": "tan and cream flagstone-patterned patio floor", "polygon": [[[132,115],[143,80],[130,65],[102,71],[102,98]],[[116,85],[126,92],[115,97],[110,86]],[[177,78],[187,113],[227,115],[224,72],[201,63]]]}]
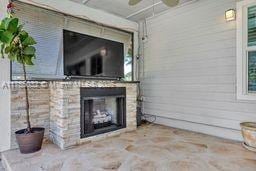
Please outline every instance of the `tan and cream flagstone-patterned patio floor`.
[{"label": "tan and cream flagstone-patterned patio floor", "polygon": [[240,142],[153,124],[64,151],[53,144],[34,154],[7,151],[2,159],[13,171],[256,170],[256,153]]}]

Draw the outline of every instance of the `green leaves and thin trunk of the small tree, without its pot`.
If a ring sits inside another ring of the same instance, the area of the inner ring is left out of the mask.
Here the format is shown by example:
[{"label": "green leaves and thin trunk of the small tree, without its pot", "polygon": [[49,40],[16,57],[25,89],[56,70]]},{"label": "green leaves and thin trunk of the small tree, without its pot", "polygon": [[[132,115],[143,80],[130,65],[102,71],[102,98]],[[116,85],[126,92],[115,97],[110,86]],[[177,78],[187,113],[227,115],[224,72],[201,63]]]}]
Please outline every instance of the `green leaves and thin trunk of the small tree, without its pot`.
[{"label": "green leaves and thin trunk of the small tree, without its pot", "polygon": [[36,41],[23,29],[18,18],[11,15],[0,22],[0,52],[2,58],[22,65],[26,93],[27,133],[31,132],[26,65],[34,65]]}]

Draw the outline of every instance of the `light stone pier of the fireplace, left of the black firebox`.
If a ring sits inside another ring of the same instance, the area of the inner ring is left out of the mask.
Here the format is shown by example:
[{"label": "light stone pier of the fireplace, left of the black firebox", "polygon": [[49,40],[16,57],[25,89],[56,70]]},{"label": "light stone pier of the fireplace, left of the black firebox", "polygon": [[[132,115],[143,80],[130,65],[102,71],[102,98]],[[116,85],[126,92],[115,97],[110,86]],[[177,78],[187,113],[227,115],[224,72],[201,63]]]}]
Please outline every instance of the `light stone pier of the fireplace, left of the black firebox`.
[{"label": "light stone pier of the fireplace, left of the black firebox", "polygon": [[61,149],[80,140],[80,89],[71,83],[50,85],[50,138]]}]

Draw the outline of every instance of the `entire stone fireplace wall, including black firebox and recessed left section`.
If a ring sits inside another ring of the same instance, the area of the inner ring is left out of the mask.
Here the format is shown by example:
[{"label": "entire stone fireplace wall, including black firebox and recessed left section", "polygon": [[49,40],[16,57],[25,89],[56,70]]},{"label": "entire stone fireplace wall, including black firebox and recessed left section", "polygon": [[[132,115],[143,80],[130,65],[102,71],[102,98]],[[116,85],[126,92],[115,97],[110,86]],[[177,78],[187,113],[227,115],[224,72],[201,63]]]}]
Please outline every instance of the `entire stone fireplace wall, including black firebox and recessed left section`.
[{"label": "entire stone fireplace wall, including black firebox and recessed left section", "polygon": [[[41,84],[40,82],[37,82]],[[32,126],[61,149],[136,130],[137,83],[120,81],[52,81],[29,89]],[[14,132],[26,127],[24,90],[12,89]]]}]

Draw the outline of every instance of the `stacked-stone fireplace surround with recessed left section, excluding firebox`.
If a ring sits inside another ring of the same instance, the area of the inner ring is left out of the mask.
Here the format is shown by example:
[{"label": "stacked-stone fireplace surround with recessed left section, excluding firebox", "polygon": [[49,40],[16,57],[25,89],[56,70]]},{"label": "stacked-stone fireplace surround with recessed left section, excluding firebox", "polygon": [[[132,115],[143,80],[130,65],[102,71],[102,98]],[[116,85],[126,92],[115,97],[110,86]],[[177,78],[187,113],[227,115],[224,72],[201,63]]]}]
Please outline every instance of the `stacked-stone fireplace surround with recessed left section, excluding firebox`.
[{"label": "stacked-stone fireplace surround with recessed left section, excluding firebox", "polygon": [[[42,83],[42,82],[39,82]],[[137,82],[107,80],[51,81],[44,82],[42,88],[30,88],[32,126],[46,128],[45,138],[61,149],[90,141],[101,140],[124,132],[136,130]],[[45,86],[47,85],[47,86]],[[81,88],[125,88],[126,127],[112,132],[81,138],[80,89]],[[17,148],[14,131],[24,128],[24,90],[11,90],[11,148]]]}]

